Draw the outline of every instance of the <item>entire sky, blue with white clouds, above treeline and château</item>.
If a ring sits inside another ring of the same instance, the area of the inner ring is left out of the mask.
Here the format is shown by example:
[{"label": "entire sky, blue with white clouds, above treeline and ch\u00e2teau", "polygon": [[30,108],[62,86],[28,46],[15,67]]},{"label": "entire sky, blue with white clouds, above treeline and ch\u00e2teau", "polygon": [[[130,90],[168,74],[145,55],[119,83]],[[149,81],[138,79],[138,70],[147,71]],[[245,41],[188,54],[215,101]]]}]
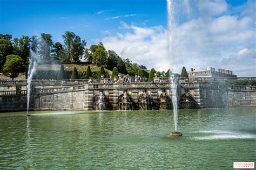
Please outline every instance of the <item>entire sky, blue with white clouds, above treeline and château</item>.
[{"label": "entire sky, blue with white clouds, above treeline and ch\u00e2teau", "polygon": [[149,69],[256,76],[256,1],[173,0],[170,18],[165,0],[0,2],[0,33],[13,37],[45,32],[62,42],[72,31]]}]

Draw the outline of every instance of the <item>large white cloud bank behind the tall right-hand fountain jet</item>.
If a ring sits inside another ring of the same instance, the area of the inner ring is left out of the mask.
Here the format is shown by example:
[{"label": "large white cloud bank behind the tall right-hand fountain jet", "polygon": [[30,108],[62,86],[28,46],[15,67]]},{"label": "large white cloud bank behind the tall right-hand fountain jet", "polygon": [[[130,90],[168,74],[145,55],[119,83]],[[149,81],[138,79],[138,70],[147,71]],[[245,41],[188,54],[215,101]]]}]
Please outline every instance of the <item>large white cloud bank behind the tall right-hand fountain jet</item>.
[{"label": "large white cloud bank behind the tall right-hand fountain jet", "polygon": [[[171,54],[169,34],[163,26],[142,27],[120,22],[120,32],[104,37],[102,42],[122,58],[129,58],[147,68],[172,68],[180,73],[182,66],[187,70],[191,67],[215,67],[233,70],[238,76],[255,76],[254,18],[244,13],[241,16],[227,15],[225,1],[202,0],[199,4],[201,11],[211,8],[210,14],[192,18],[175,27]],[[247,8],[251,6],[247,5]]]}]

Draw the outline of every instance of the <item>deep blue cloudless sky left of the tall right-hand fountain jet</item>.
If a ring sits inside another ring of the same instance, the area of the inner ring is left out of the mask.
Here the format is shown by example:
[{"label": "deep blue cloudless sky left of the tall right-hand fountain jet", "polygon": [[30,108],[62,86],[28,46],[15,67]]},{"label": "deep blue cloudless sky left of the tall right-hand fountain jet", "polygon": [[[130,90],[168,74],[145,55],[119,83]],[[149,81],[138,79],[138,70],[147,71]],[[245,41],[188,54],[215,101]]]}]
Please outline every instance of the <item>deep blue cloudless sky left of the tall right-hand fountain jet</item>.
[{"label": "deep blue cloudless sky left of the tall right-hand fountain jet", "polygon": [[65,31],[72,31],[93,44],[104,31],[118,30],[121,20],[140,26],[166,25],[166,2],[1,0],[1,32],[13,37],[45,32],[57,41]]}]

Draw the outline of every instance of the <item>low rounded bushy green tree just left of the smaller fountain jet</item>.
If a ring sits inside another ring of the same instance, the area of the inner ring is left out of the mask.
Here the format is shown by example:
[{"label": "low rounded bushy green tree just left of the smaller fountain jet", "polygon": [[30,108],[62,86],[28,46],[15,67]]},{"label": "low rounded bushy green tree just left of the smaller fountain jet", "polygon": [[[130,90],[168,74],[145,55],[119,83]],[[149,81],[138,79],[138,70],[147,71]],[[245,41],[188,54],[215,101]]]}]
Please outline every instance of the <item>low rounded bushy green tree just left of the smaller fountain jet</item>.
[{"label": "low rounded bushy green tree just left of the smaller fountain jet", "polygon": [[9,75],[12,80],[18,76],[18,73],[23,69],[23,60],[18,55],[7,55],[4,63],[3,72]]}]

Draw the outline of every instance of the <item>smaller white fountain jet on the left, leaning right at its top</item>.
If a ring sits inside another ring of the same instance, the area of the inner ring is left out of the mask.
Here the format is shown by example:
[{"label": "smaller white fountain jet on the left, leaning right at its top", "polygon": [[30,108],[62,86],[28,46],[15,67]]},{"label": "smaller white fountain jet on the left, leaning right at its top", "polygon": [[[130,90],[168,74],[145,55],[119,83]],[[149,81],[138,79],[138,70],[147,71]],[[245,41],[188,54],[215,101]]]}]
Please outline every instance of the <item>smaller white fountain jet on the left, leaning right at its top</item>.
[{"label": "smaller white fountain jet on the left, leaning right at its top", "polygon": [[36,52],[33,52],[30,49],[30,59],[29,59],[29,70],[28,70],[28,79],[26,83],[26,98],[28,100],[27,102],[27,116],[29,116],[29,99],[30,99],[30,93],[31,93],[31,80],[33,77],[33,74],[36,72],[36,66],[37,66],[37,54]]}]

